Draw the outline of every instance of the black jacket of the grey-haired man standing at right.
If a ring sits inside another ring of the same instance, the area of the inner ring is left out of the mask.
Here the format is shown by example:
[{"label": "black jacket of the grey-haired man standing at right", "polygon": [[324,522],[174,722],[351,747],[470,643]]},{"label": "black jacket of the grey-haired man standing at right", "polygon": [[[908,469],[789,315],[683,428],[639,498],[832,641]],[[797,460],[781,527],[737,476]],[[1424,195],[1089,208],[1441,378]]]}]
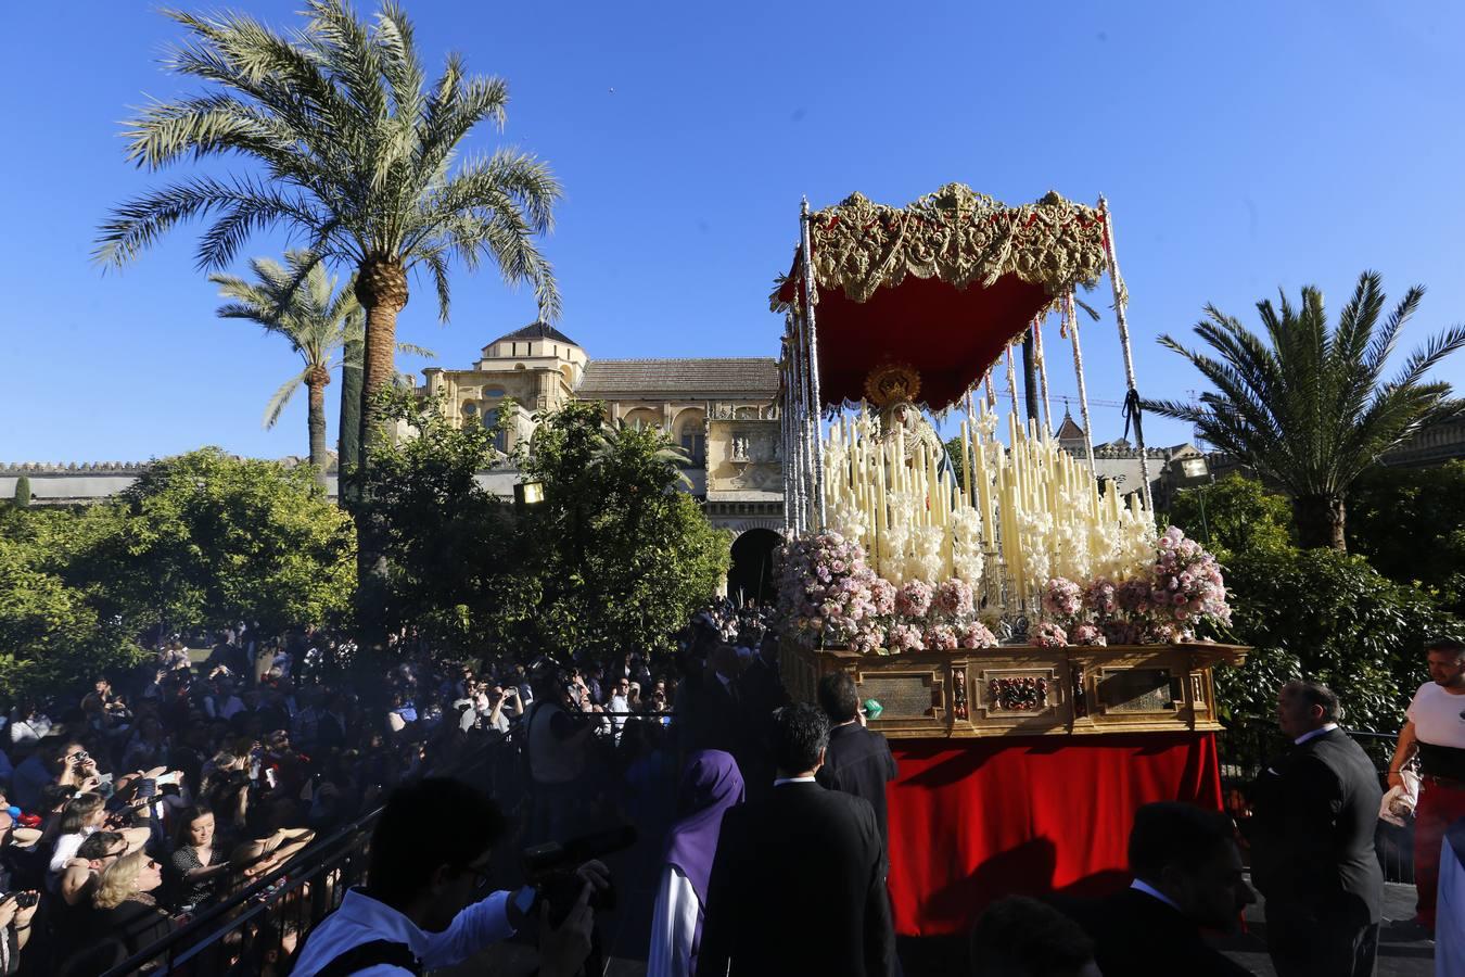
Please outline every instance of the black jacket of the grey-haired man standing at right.
[{"label": "black jacket of the grey-haired man standing at right", "polygon": [[1294,747],[1251,788],[1251,879],[1270,901],[1298,902],[1340,924],[1381,915],[1374,826],[1383,790],[1342,729]]}]

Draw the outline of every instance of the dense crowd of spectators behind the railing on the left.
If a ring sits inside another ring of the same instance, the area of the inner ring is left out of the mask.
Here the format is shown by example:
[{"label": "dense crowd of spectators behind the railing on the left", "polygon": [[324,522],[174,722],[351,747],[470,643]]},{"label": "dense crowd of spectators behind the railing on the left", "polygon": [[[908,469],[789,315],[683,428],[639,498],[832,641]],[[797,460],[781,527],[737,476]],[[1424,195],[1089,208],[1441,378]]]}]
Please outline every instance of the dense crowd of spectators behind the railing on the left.
[{"label": "dense crowd of spectators behind the railing on the left", "polygon": [[[0,715],[0,976],[100,973],[398,785],[514,737],[536,744],[524,748],[542,788],[532,803],[554,809],[536,820],[542,838],[612,807],[653,816],[672,790],[672,715],[702,636],[765,633],[765,609],[719,601],[655,671],[640,652],[445,661],[397,634],[384,681],[353,683],[343,680],[352,642],[240,624],[212,644],[176,636],[125,674],[16,702]],[[231,962],[248,973],[259,961]]]}]

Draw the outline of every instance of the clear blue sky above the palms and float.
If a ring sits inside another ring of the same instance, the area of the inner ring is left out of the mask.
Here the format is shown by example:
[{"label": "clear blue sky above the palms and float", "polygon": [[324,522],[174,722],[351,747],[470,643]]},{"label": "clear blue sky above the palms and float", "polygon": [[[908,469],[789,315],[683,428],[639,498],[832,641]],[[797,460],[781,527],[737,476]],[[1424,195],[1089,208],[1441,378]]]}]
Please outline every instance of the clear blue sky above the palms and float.
[{"label": "clear blue sky above the palms and float", "polygon": [[[297,1],[234,6],[286,23]],[[1009,204],[1049,189],[1108,195],[1146,395],[1198,387],[1154,337],[1187,331],[1206,302],[1256,322],[1257,299],[1316,283],[1336,312],[1376,268],[1390,294],[1428,286],[1415,343],[1465,319],[1458,4],[407,9],[431,64],[453,48],[510,82],[507,130],[485,129],[472,148],[516,144],[564,182],[544,249],[561,328],[592,357],[772,356],[781,322],[766,296],[801,195],[905,204],[951,180]],[[299,369],[293,354],[214,318],[192,229],[120,274],[89,264],[108,208],[167,176],[132,170],[117,133],[129,107],[198,89],[157,63],[177,28],[133,0],[18,4],[7,28],[0,460],[136,460],[202,444],[303,454],[303,394],[261,428],[270,394]],[[246,255],[283,248],[261,237]],[[491,271],[460,274],[448,327],[423,283],[398,333],[463,368],[533,318],[529,293]],[[1090,397],[1119,400],[1112,316],[1087,325],[1084,344]],[[1440,374],[1465,384],[1465,359]],[[1055,369],[1052,385],[1072,393],[1071,371]],[[1118,437],[1118,412],[1094,413],[1097,438]],[[334,439],[334,416],[331,428]],[[1188,437],[1159,419],[1147,434]]]}]

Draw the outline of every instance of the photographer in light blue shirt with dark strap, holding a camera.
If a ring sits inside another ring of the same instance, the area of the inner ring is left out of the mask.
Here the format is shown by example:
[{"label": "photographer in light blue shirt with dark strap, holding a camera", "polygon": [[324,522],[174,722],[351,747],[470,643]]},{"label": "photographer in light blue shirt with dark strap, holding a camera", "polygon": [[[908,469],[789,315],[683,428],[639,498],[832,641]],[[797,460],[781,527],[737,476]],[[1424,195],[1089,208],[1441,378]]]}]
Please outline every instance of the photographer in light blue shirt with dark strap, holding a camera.
[{"label": "photographer in light blue shirt with dark strap, holding a camera", "polygon": [[[444,825],[445,817],[456,823]],[[372,833],[365,888],[347,891],[311,933],[293,973],[418,974],[513,936],[529,921],[533,894],[485,895],[489,854],[502,829],[494,801],[460,781],[426,778],[394,791]],[[542,977],[570,977],[589,955],[589,899],[608,882],[599,863],[586,863],[579,874],[585,885],[560,927],[549,929],[548,911],[541,913]]]}]

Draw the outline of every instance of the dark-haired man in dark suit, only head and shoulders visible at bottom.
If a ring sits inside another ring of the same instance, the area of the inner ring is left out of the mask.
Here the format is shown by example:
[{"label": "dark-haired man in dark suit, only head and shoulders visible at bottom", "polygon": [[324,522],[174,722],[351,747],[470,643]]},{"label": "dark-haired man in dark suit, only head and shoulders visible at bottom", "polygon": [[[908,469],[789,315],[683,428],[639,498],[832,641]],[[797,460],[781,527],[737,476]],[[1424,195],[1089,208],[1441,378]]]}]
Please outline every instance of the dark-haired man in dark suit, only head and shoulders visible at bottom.
[{"label": "dark-haired man in dark suit, only head and shoulders visible at bottom", "polygon": [[1241,876],[1231,819],[1193,804],[1146,804],[1130,832],[1128,889],[1105,899],[1059,902],[1094,942],[1105,974],[1247,977],[1201,939],[1229,930],[1256,895]]}]

